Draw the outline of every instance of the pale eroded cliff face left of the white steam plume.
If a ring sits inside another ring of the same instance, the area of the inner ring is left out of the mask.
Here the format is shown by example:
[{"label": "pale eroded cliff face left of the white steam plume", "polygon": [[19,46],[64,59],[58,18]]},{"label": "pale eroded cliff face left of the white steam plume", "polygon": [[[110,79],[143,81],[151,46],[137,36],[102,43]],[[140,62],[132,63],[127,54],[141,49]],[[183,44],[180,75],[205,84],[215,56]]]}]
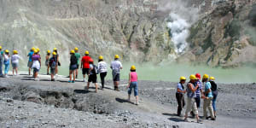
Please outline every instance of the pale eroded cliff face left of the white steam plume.
[{"label": "pale eroded cliff face left of the white steam plume", "polygon": [[154,17],[157,3],[146,0],[1,1],[0,42],[19,49],[23,60],[32,46],[70,49],[125,61],[161,61],[172,51],[165,17]]}]

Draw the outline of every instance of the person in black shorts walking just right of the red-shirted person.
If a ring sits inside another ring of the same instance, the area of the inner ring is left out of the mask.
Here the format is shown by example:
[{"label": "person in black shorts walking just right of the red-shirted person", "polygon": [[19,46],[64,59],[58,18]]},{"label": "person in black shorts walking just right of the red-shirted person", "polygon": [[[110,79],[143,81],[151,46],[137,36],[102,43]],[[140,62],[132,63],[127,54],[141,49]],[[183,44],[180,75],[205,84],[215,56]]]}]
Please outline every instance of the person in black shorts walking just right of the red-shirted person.
[{"label": "person in black shorts walking just right of the red-shirted person", "polygon": [[96,90],[95,92],[97,93],[98,91],[98,85],[97,85],[97,67],[93,64],[93,60],[90,59],[89,60],[90,62],[90,68],[89,68],[89,79],[88,79],[88,82],[87,82],[87,90],[89,90],[89,86],[90,86],[90,82],[92,82],[93,84],[95,84],[95,87],[96,87]]}]

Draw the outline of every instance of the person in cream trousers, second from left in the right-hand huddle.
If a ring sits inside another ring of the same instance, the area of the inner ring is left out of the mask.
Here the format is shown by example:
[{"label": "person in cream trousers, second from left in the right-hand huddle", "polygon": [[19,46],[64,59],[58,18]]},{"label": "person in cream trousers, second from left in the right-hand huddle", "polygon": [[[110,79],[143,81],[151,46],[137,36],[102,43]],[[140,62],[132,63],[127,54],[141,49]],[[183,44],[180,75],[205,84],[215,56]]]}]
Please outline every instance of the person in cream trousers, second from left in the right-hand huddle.
[{"label": "person in cream trousers, second from left in the right-hand huddle", "polygon": [[185,122],[189,122],[188,120],[188,115],[191,112],[191,109],[193,110],[193,113],[195,113],[195,117],[197,119],[197,123],[201,123],[201,120],[199,119],[198,116],[198,110],[196,107],[196,102],[195,102],[195,90],[197,90],[197,88],[199,88],[198,84],[196,84],[196,77],[195,75],[190,75],[189,77],[190,81],[187,84],[187,109],[185,112]]}]

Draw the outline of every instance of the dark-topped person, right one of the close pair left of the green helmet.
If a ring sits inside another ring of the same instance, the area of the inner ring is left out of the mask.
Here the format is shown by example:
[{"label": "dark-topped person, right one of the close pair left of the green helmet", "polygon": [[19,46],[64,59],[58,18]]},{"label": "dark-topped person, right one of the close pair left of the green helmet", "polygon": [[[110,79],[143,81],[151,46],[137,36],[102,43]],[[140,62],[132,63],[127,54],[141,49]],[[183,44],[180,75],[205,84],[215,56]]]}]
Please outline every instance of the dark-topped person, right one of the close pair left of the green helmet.
[{"label": "dark-topped person, right one of the close pair left of the green helmet", "polygon": [[55,67],[57,65],[56,53],[52,53],[52,57],[49,59],[50,67],[50,81],[55,81]]}]

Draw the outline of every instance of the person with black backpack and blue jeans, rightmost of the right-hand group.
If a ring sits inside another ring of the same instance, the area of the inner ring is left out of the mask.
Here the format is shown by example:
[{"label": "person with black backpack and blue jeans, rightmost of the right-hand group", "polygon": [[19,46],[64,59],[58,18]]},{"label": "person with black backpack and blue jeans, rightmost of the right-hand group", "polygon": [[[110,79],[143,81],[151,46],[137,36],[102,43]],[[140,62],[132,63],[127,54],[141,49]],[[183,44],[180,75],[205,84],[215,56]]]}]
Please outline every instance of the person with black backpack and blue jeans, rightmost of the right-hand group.
[{"label": "person with black backpack and blue jeans, rightmost of the right-hand group", "polygon": [[213,99],[212,99],[212,108],[213,108],[213,113],[214,113],[214,118],[216,119],[216,100],[217,100],[217,96],[218,96],[218,86],[215,83],[215,78],[214,77],[210,77],[210,83],[212,85],[212,95],[213,95]]}]

